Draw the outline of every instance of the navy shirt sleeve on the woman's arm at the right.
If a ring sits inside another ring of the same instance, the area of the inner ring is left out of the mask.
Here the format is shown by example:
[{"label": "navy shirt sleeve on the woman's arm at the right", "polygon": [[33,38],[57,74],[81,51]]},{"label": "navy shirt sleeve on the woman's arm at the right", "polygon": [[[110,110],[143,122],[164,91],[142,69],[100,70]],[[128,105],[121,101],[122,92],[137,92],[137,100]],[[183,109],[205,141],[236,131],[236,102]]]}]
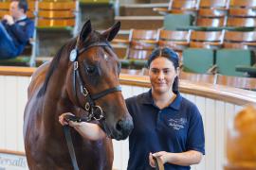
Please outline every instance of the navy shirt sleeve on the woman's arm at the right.
[{"label": "navy shirt sleeve on the woman's arm at the right", "polygon": [[195,105],[192,105],[190,113],[187,149],[196,150],[205,155],[205,134],[202,116]]}]

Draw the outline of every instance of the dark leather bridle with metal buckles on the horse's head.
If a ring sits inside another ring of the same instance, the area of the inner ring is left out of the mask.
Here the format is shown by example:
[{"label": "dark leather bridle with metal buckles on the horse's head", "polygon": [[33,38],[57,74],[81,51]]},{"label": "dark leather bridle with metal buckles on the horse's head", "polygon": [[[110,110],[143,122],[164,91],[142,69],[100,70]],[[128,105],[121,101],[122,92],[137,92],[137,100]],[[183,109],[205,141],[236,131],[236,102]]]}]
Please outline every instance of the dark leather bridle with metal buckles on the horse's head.
[{"label": "dark leather bridle with metal buckles on the horse's head", "polygon": [[114,88],[110,88],[107,90],[104,90],[100,93],[95,93],[95,94],[90,94],[86,87],[83,86],[85,83],[83,82],[81,76],[80,76],[80,72],[79,72],[79,64],[78,64],[78,57],[85,52],[86,50],[88,50],[91,47],[94,46],[109,46],[108,42],[94,42],[88,46],[84,46],[82,49],[78,49],[78,43],[79,43],[80,37],[78,37],[77,42],[76,42],[76,47],[75,49],[73,49],[70,52],[70,56],[69,59],[71,62],[73,62],[73,66],[74,66],[74,72],[73,72],[73,91],[75,93],[75,98],[77,103],[80,105],[79,102],[79,98],[77,95],[77,91],[76,91],[76,78],[80,79],[79,81],[79,86],[80,86],[80,92],[82,93],[82,95],[85,98],[85,104],[84,107],[82,107],[83,110],[86,110],[89,114],[86,118],[82,118],[81,121],[86,121],[89,122],[92,119],[94,120],[98,120],[100,121],[101,119],[104,119],[104,115],[103,115],[103,110],[101,109],[100,106],[96,106],[95,105],[95,100],[98,100],[99,98],[107,95],[108,93],[115,93],[115,92],[120,92],[121,91],[121,87],[120,86],[116,86]]}]

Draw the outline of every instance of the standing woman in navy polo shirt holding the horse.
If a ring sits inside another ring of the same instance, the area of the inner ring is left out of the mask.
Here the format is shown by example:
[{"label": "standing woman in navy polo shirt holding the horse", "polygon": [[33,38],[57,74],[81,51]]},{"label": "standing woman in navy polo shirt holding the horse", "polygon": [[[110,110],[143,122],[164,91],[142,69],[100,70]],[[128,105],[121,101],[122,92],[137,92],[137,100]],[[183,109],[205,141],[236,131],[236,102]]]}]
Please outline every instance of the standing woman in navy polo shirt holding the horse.
[{"label": "standing woman in navy polo shirt holding the horse", "polygon": [[[202,117],[196,106],[178,92],[178,66],[173,50],[156,49],[148,59],[151,90],[126,99],[134,120],[128,170],[152,169],[153,157],[159,157],[166,170],[190,169],[205,154]],[[78,131],[90,137],[85,129]],[[100,127],[95,125],[94,129],[98,135],[93,139],[104,137]]]}]

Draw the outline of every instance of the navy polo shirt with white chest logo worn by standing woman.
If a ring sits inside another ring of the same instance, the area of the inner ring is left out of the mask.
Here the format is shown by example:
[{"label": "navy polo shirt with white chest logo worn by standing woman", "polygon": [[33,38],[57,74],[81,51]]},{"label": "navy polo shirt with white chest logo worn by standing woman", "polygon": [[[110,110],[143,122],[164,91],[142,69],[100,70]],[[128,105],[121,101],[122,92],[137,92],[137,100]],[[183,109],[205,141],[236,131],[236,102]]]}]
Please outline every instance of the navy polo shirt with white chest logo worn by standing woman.
[{"label": "navy polo shirt with white chest logo worn by standing woman", "polygon": [[[201,114],[196,106],[176,93],[174,102],[160,110],[151,90],[126,99],[134,129],[129,136],[128,170],[152,169],[149,153],[173,153],[197,150],[205,154],[205,136]],[[165,163],[165,170],[187,170],[190,166]]]}]

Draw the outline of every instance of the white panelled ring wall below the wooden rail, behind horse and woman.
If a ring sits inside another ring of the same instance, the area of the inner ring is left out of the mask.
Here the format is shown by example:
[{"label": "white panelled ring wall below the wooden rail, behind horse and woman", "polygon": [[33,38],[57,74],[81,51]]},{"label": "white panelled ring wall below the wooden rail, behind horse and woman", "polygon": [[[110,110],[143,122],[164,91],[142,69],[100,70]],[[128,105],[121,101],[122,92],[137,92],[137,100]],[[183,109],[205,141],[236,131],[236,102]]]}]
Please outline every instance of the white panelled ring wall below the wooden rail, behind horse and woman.
[{"label": "white panelled ring wall below the wooden rail, behind horse and woman", "polygon": [[[22,127],[28,82],[27,76],[0,76],[0,149],[24,151]],[[147,88],[122,86],[125,98],[147,90]],[[192,169],[222,169],[225,161],[225,134],[228,122],[242,107],[192,94],[183,94],[197,105],[205,126],[206,156]],[[114,168],[126,169],[129,157],[128,141],[114,141],[114,151]]]}]

